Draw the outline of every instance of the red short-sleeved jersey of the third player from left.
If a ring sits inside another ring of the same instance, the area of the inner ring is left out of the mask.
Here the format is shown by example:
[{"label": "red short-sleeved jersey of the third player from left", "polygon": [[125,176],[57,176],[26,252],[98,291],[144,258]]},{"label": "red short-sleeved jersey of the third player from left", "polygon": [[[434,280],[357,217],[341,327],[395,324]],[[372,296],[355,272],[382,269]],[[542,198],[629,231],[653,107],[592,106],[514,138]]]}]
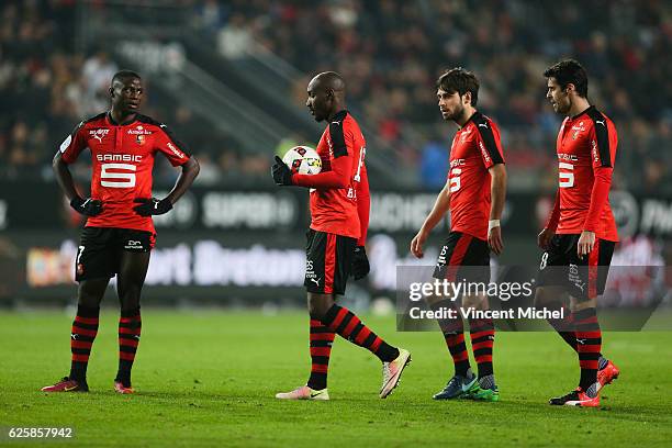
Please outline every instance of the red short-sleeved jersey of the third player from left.
[{"label": "red short-sleeved jersey of the third player from left", "polygon": [[490,172],[504,164],[500,130],[488,116],[474,112],[455,134],[450,147],[450,231],[488,239]]}]

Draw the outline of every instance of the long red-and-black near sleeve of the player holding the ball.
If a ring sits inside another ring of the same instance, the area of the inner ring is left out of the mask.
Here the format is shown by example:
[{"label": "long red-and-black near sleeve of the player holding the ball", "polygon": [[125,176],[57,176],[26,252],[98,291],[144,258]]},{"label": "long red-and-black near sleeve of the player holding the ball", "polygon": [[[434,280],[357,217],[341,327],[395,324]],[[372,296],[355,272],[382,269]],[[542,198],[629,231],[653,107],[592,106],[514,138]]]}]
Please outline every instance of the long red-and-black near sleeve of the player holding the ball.
[{"label": "long red-and-black near sleeve of the player holding the ball", "polygon": [[329,156],[331,170],[317,175],[293,175],[292,182],[299,187],[317,189],[339,189],[350,184],[352,173],[352,157],[355,154],[355,139],[352,132],[346,126],[344,120],[329,123],[329,141],[332,150]]}]

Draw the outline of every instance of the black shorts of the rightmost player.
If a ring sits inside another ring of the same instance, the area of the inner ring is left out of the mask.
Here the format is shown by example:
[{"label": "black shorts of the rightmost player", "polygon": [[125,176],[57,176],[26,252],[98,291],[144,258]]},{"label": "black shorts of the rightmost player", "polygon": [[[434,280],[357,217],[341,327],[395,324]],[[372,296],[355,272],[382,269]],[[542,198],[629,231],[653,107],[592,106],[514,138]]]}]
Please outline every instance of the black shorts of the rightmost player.
[{"label": "black shorts of the rightmost player", "polygon": [[537,287],[563,287],[576,299],[593,299],[604,293],[616,243],[597,238],[587,257],[579,258],[580,234],[552,237],[541,255]]}]

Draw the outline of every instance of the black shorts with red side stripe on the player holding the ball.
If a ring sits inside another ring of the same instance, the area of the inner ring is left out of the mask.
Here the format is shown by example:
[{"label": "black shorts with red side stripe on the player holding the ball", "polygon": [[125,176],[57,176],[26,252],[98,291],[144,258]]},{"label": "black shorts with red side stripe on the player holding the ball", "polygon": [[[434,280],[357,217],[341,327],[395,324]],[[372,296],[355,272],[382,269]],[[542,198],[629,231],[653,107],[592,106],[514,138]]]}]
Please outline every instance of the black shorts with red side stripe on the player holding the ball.
[{"label": "black shorts with red side stripe on the player holding the ball", "polygon": [[305,245],[305,281],[307,292],[345,294],[352,270],[357,239],[309,229]]}]

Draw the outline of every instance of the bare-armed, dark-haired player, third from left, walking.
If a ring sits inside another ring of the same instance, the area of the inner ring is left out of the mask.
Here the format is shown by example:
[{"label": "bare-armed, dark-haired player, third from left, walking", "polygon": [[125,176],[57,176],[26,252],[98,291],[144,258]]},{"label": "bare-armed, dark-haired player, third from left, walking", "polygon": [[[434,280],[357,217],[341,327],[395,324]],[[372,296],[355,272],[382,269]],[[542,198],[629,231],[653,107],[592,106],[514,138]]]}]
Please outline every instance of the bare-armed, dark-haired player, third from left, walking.
[{"label": "bare-armed, dark-haired player, third from left, walking", "polygon": [[[434,277],[488,283],[490,250],[500,255],[504,248],[500,219],[506,195],[506,170],[500,130],[491,119],[475,110],[478,94],[479,80],[463,68],[448,70],[437,81],[441,115],[460,128],[452,139],[446,186],[411,242],[411,253],[417,258],[424,256],[423,246],[429,233],[450,211],[450,233],[441,248]],[[428,303],[434,310],[453,309],[460,299],[463,307],[483,310],[489,305],[488,298],[482,295],[428,298]],[[479,366],[478,378],[471,372],[462,318],[458,315],[457,318],[440,320],[439,327],[455,363],[455,376],[434,399],[497,401],[500,392],[492,367],[492,320],[469,320],[473,356]]]}]

